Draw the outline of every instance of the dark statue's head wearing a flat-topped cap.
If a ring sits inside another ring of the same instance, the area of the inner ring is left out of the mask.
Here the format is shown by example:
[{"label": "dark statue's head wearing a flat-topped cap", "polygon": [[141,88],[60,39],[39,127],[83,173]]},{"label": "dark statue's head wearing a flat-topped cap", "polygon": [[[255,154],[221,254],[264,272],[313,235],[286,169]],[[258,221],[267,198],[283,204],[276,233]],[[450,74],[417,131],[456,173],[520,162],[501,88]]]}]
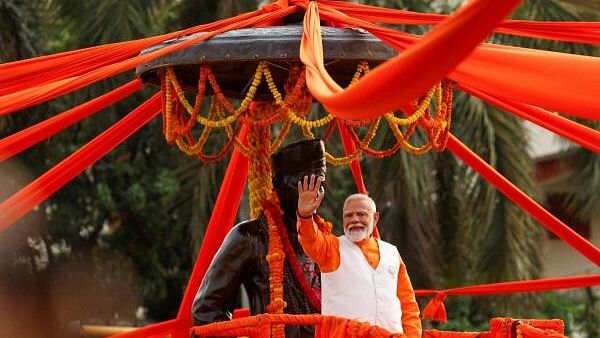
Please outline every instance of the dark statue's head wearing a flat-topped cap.
[{"label": "dark statue's head wearing a flat-topped cap", "polygon": [[[296,210],[298,181],[315,174],[325,181],[325,145],[321,140],[305,140],[289,144],[271,155],[273,188],[284,211]],[[324,183],[324,182],[323,182]]]}]

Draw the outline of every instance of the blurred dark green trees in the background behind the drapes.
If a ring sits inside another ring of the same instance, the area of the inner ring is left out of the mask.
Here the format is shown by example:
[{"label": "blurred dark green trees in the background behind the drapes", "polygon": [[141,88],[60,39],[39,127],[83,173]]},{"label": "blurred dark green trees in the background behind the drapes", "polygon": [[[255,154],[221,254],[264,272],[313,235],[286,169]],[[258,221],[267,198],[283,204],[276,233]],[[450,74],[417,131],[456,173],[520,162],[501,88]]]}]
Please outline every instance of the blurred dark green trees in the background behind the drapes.
[{"label": "blurred dark green trees in the background behind the drapes", "polygon": [[[456,5],[456,1],[435,0],[363,2],[437,13],[450,13]],[[256,6],[253,0],[0,0],[0,60],[138,39],[211,22]],[[598,15],[589,6],[595,8],[585,1],[527,1],[514,17],[593,20]],[[398,28],[414,33],[429,29]],[[495,35],[492,39],[529,48],[598,53],[597,48],[589,46],[508,35]],[[26,112],[0,117],[1,136],[85,102],[132,77],[132,72],[128,72]],[[119,102],[15,160],[23,163],[32,177],[38,176],[125,116],[151,92],[147,90]],[[323,111],[313,114],[322,116]],[[531,158],[523,151],[527,140],[519,120],[458,93],[452,132],[517,186],[537,196],[531,180]],[[332,137],[328,151],[343,154],[335,133]],[[294,130],[287,142],[298,138],[300,132]],[[373,147],[383,149],[393,142],[391,133],[380,133]],[[411,142],[422,143],[423,135],[416,135]],[[568,180],[571,207],[586,218],[597,218],[594,206],[600,204],[600,162],[597,155],[576,151],[580,155],[575,172],[580,175]],[[172,318],[226,166],[227,161],[200,165],[196,159],[168,146],[160,121],[154,120],[53,195],[37,212],[13,226],[21,232],[0,234],[0,263],[19,270],[22,280],[31,281],[22,283],[22,294],[41,289],[40,298],[48,301],[57,292],[53,287],[64,283],[74,297],[81,299],[73,301],[62,317],[44,320],[141,324],[135,318],[137,306],[147,309],[147,320]],[[381,212],[382,236],[400,248],[416,288],[538,276],[540,226],[451,154],[413,156],[400,151],[384,160],[363,158],[361,166]],[[4,168],[8,168],[5,163],[0,165],[0,169]],[[29,180],[30,177],[23,179],[18,185]],[[338,225],[339,232],[341,205],[355,191],[349,169],[330,167],[327,186],[321,212]],[[13,278],[4,271],[2,274],[6,280]],[[54,282],[43,282],[47,280]],[[27,289],[29,285],[31,289]],[[59,291],[70,297],[67,290]],[[449,323],[438,328],[484,330],[489,316],[531,316],[537,307],[539,316],[567,320],[569,330],[600,336],[598,301],[594,295],[569,297],[547,294],[541,299],[525,298],[526,301],[522,296],[518,300],[507,296],[457,297],[447,303]],[[517,301],[523,306],[516,308]]]}]

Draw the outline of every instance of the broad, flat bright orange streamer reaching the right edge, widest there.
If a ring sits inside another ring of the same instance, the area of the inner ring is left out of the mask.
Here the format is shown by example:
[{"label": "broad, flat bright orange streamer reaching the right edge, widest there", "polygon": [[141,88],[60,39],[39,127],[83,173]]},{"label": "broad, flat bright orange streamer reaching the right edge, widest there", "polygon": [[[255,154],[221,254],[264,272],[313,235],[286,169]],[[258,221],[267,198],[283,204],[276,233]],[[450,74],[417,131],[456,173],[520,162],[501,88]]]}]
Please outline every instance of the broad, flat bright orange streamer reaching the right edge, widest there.
[{"label": "broad, flat bright orange streamer reaching the right edge, widest there", "polygon": [[482,46],[450,74],[460,84],[590,120],[600,120],[600,58]]}]

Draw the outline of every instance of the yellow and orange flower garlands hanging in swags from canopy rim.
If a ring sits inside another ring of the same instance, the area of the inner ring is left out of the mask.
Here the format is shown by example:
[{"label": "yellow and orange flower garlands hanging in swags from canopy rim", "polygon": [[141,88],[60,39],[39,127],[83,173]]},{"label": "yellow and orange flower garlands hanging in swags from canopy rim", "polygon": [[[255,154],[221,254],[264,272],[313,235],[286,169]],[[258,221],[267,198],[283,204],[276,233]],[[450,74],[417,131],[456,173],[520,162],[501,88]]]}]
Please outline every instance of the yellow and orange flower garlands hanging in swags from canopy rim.
[{"label": "yellow and orange flower garlands hanging in swags from canopy rim", "polygon": [[[369,71],[369,64],[364,61],[360,62],[349,86],[354,85]],[[243,154],[250,155],[251,152],[248,147],[237,139],[237,131],[242,122],[265,129],[276,123],[281,123],[280,128],[274,129],[278,133],[275,139],[270,141],[271,150],[276,150],[283,144],[294,125],[300,129],[307,139],[314,139],[316,137],[315,130],[326,127],[321,138],[328,140],[335,129],[335,124],[343,123],[351,131],[356,150],[345,156],[334,156],[327,152],[326,160],[332,165],[344,165],[359,159],[363,154],[383,158],[395,154],[400,149],[415,155],[422,155],[431,150],[443,151],[446,147],[452,120],[454,84],[444,80],[431,88],[421,99],[414,102],[411,115],[398,117],[393,112],[389,112],[382,116],[394,135],[395,143],[387,149],[376,150],[371,148],[371,143],[381,127],[381,118],[372,120],[336,119],[333,115],[327,113],[315,120],[307,119],[312,97],[306,88],[305,71],[300,66],[292,66],[289,70],[289,76],[283,88],[284,94],[282,94],[273,80],[268,63],[265,61],[259,62],[250,86],[237,108],[225,97],[217,78],[207,65],[200,67],[193,105],[188,101],[173,68],[166,67],[160,75],[163,92],[163,133],[165,139],[169,144],[176,144],[183,152],[196,156],[203,162],[223,159],[233,146],[237,147]],[[256,114],[250,114],[248,108],[263,81],[266,83],[273,100],[269,104],[261,103],[263,113],[259,117]],[[204,105],[203,97],[206,95],[207,86],[210,86],[213,95],[208,105],[208,113],[203,116],[200,111]],[[435,108],[435,113],[432,107]],[[202,127],[201,132],[193,131],[193,128],[197,125]],[[366,128],[367,126],[368,128]],[[362,128],[366,128],[366,132],[364,132],[364,136],[359,136],[359,133],[363,133],[361,132]],[[421,145],[414,145],[410,141],[416,128],[422,129],[426,135],[425,143]],[[203,153],[203,148],[208,143],[214,129],[224,129],[228,140],[216,154],[207,155]],[[194,134],[200,135],[198,139],[193,137]]]}]

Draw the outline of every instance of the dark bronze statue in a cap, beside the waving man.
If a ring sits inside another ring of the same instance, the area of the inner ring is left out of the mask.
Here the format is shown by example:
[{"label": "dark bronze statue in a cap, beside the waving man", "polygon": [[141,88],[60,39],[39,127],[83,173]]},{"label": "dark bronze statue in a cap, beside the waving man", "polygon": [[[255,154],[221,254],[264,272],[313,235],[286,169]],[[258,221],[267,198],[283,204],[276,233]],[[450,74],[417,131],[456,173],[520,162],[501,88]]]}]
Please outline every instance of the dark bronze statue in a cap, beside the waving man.
[{"label": "dark bronze statue in a cap, beside the waving man", "polygon": [[[287,257],[284,265],[285,313],[318,313],[311,306],[296,280],[288,259],[297,259],[310,288],[320,296],[320,271],[298,243],[296,208],[297,184],[305,175],[325,178],[325,148],[320,140],[290,144],[271,156],[273,188],[280,200],[283,223],[296,257]],[[267,220],[256,219],[237,224],[229,232],[213,259],[192,306],[194,325],[231,319],[240,286],[248,293],[252,315],[266,313],[269,304],[269,272],[265,259],[268,250]],[[306,283],[305,283],[306,285]],[[312,327],[288,326],[286,337],[312,337]]]}]

